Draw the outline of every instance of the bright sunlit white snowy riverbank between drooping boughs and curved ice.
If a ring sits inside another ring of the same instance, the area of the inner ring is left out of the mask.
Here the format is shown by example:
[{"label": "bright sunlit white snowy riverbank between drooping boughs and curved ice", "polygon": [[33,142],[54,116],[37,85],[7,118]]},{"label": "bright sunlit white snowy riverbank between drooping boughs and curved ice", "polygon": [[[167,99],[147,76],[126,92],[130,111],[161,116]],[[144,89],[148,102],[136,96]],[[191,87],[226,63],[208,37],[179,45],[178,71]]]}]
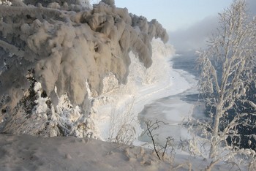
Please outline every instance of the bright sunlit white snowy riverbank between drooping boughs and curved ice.
[{"label": "bright sunlit white snowy riverbank between drooping boughs and curved ice", "polygon": [[113,75],[105,78],[103,92],[106,92],[94,99],[91,111],[91,121],[99,139],[111,140],[124,124],[135,129],[133,139],[137,139],[142,132],[138,113],[146,104],[190,88],[184,77],[170,67],[173,47],[157,39],[151,45],[153,64],[149,69],[145,69],[135,54],[130,53],[132,62],[127,84],[118,86]]}]

